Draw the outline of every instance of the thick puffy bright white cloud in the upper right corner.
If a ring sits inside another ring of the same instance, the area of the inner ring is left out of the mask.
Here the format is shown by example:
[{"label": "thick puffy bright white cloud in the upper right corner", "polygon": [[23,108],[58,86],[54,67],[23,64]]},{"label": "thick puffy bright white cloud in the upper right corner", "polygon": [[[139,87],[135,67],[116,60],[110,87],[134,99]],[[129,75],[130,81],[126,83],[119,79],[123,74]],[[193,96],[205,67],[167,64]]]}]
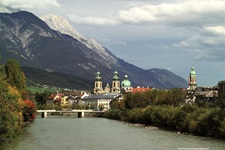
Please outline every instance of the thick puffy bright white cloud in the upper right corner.
[{"label": "thick puffy bright white cloud in the upper right corner", "polygon": [[133,6],[128,10],[120,10],[118,15],[121,21],[127,23],[180,25],[196,22],[213,22],[216,19],[221,19],[221,17],[224,20],[225,16],[221,15],[224,13],[225,1],[223,0],[191,0],[179,3]]}]

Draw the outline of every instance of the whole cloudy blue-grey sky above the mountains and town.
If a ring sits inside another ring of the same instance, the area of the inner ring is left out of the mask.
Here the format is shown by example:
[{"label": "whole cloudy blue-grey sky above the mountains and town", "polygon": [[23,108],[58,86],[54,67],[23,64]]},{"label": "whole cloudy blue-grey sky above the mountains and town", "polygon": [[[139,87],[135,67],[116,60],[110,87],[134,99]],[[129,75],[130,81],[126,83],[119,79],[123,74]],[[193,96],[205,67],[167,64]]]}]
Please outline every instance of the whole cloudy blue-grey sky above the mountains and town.
[{"label": "whole cloudy blue-grey sky above the mountains and town", "polygon": [[225,80],[224,0],[0,0],[36,16],[64,17],[81,34],[143,69],[167,69],[198,86]]}]

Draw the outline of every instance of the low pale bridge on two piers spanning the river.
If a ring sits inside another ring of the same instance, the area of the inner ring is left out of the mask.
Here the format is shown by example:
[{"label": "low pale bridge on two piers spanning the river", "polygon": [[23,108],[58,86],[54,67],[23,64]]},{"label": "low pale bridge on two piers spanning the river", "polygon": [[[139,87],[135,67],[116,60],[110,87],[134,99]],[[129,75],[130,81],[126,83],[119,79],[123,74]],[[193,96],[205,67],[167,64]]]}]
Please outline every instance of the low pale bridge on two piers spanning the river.
[{"label": "low pale bridge on two piers spanning the river", "polygon": [[71,111],[63,111],[63,110],[37,110],[37,113],[41,113],[42,118],[47,118],[48,113],[77,113],[78,118],[84,118],[85,113],[96,113],[96,114],[104,114],[104,111],[94,111],[94,110],[71,110]]}]

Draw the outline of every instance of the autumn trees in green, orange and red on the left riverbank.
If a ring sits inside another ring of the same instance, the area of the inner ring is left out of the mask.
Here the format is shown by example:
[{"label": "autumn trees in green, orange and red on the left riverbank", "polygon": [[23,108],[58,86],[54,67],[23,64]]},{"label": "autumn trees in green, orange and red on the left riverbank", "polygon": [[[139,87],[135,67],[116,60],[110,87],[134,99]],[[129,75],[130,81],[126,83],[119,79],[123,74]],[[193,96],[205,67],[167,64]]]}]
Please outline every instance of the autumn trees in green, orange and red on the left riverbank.
[{"label": "autumn trees in green, orange and red on the left riverbank", "polygon": [[36,117],[36,105],[28,99],[26,77],[13,59],[0,66],[0,145],[14,140]]}]

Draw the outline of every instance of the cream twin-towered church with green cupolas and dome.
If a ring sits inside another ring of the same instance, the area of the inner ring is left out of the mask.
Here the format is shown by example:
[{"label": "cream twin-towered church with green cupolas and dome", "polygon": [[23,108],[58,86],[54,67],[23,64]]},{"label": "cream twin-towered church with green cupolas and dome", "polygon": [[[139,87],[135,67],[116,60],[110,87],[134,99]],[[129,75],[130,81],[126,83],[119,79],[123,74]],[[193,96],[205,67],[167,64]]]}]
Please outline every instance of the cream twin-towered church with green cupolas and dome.
[{"label": "cream twin-towered church with green cupolas and dome", "polygon": [[114,72],[112,78],[112,88],[110,88],[109,84],[105,86],[105,89],[102,88],[102,78],[101,73],[98,71],[95,77],[95,86],[94,86],[94,94],[104,94],[104,93],[121,93],[121,88],[132,88],[131,82],[130,84],[127,83],[127,75],[125,75],[125,79],[121,82],[120,85],[120,78],[119,73],[117,71]]}]

